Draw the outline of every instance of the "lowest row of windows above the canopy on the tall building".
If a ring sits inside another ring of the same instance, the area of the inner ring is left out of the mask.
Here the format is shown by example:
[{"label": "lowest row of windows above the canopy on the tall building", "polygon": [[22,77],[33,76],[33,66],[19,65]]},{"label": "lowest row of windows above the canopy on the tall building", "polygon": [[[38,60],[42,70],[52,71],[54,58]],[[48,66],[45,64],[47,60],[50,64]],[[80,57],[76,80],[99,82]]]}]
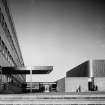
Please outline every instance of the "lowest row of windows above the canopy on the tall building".
[{"label": "lowest row of windows above the canopy on the tall building", "polygon": [[2,55],[5,57],[5,59],[11,64],[11,65],[16,65],[10,52],[8,51],[5,43],[3,42],[3,40],[0,37],[0,52],[2,53]]}]

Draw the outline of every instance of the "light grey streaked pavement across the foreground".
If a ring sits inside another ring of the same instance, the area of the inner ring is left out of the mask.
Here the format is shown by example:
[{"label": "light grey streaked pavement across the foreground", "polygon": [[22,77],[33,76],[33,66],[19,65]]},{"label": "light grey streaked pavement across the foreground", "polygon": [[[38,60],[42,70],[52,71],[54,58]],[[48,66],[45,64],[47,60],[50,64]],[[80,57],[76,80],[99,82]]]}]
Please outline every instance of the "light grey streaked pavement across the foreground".
[{"label": "light grey streaked pavement across the foreground", "polygon": [[105,92],[1,94],[0,104],[105,104]]}]

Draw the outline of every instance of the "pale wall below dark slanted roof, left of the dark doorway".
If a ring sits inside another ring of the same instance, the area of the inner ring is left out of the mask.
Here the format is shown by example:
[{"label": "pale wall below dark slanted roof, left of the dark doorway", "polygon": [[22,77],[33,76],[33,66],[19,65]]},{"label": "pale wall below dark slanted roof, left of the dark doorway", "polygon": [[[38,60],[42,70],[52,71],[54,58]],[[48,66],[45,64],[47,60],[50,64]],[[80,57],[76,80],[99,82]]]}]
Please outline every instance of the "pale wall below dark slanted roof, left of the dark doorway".
[{"label": "pale wall below dark slanted roof, left of the dark doorway", "polygon": [[76,92],[79,86],[81,92],[88,91],[88,77],[65,78],[65,92]]}]

